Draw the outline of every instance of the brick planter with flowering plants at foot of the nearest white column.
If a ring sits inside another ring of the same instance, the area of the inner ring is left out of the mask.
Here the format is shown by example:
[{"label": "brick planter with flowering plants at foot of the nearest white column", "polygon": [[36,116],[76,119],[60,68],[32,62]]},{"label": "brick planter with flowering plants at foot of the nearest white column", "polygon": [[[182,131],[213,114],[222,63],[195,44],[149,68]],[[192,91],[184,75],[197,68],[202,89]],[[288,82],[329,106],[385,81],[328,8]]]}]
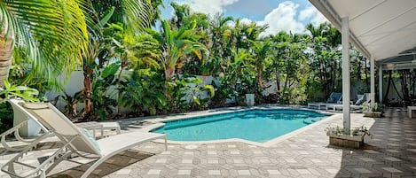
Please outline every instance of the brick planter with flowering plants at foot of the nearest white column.
[{"label": "brick planter with flowering plants at foot of the nearest white column", "polygon": [[329,144],[334,146],[360,148],[364,145],[365,135],[372,136],[365,126],[352,129],[337,127],[326,128],[326,135],[329,136]]}]

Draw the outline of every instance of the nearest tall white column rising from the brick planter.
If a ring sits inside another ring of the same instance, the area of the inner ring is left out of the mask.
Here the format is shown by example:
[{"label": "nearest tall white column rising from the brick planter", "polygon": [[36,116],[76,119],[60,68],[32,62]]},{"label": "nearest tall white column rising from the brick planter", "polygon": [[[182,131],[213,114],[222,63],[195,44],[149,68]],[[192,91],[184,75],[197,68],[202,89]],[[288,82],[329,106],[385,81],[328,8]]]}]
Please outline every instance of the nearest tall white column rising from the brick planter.
[{"label": "nearest tall white column rising from the brick planter", "polygon": [[344,129],[351,128],[349,114],[349,97],[350,97],[350,77],[349,77],[349,18],[342,18],[341,27],[342,40],[342,114]]}]

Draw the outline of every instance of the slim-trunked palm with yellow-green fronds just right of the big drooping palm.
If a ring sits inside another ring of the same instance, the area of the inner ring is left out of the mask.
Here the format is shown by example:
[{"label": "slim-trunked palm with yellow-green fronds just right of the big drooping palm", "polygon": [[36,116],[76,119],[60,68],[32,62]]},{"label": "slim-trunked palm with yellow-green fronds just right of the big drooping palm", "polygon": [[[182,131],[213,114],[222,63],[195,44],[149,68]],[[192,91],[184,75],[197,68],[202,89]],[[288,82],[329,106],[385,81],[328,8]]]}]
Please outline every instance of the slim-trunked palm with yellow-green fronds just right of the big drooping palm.
[{"label": "slim-trunked palm with yellow-green fronds just right of the big drooping palm", "polygon": [[[108,50],[108,41],[114,42],[111,35],[105,35],[104,28],[108,23],[122,23],[122,42],[133,43],[134,36],[145,31],[153,22],[149,19],[149,14],[153,12],[152,4],[147,0],[121,0],[121,1],[101,1],[90,0],[90,5],[86,6],[88,22],[88,35],[90,42],[88,50],[82,56],[84,74],[84,117],[90,117],[92,112],[92,81],[94,74],[95,60],[103,61],[108,57],[111,50]],[[110,44],[110,45],[115,45]],[[128,51],[128,50],[125,50]],[[126,63],[125,61],[123,61]]]}]

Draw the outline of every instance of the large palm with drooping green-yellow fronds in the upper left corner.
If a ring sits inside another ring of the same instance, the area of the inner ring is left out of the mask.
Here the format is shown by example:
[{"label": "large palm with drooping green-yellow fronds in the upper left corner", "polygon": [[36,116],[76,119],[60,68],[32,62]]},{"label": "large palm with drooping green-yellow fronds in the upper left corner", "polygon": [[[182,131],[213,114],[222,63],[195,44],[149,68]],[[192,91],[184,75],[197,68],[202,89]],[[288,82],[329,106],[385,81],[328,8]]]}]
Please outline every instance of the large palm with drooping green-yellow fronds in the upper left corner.
[{"label": "large palm with drooping green-yellow fronds in the upper left corner", "polygon": [[[20,47],[31,63],[29,78],[59,83],[82,63],[88,35],[77,0],[0,0],[0,81],[8,78],[13,50]],[[57,85],[55,85],[57,86]]]}]

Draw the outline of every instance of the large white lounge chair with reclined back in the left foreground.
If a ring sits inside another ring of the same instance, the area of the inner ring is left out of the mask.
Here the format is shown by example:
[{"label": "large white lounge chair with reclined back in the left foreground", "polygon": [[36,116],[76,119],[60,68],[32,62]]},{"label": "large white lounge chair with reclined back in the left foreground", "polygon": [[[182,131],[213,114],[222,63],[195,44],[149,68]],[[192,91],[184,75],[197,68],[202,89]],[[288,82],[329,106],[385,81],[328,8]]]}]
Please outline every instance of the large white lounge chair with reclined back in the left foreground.
[{"label": "large white lounge chair with reclined back in the left foreground", "polygon": [[[32,143],[32,146],[26,147],[24,151],[10,159],[2,166],[2,171],[12,177],[46,177],[53,167],[57,166],[60,161],[70,159],[73,154],[86,159],[96,159],[96,161],[82,174],[82,178],[88,175],[106,159],[111,158],[117,153],[126,151],[141,143],[153,141],[155,139],[165,140],[165,150],[167,147],[166,135],[147,133],[147,132],[130,132],[121,135],[113,135],[100,140],[95,140],[87,130],[75,126],[71,120],[59,112],[52,104],[33,104],[20,103],[24,112],[31,118],[38,120],[45,128],[47,135],[56,135],[63,143],[57,151],[53,152],[39,166],[28,165],[21,161],[31,151],[39,140]],[[24,166],[15,169],[15,166]],[[27,171],[30,169],[30,171]],[[22,171],[25,170],[25,171]],[[18,173],[19,172],[19,173]]]}]

